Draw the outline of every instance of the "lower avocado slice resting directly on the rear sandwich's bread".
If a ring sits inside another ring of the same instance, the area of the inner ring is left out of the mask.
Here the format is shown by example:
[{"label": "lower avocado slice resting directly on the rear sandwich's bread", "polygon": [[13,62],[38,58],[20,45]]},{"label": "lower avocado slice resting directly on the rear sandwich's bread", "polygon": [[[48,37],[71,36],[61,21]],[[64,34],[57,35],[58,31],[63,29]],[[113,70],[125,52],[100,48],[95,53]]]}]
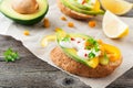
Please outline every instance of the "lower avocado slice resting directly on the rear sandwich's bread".
[{"label": "lower avocado slice resting directly on the rear sandwich's bread", "polygon": [[74,7],[73,4],[71,4],[71,3],[69,2],[69,0],[61,0],[61,2],[62,2],[65,7],[70,8],[71,10],[74,10],[74,11],[76,11],[76,12],[79,12],[79,13],[83,13],[83,14],[88,14],[88,15],[104,14],[104,11],[103,11],[103,10],[94,11],[94,10],[82,10],[82,9],[79,9],[79,8]]}]

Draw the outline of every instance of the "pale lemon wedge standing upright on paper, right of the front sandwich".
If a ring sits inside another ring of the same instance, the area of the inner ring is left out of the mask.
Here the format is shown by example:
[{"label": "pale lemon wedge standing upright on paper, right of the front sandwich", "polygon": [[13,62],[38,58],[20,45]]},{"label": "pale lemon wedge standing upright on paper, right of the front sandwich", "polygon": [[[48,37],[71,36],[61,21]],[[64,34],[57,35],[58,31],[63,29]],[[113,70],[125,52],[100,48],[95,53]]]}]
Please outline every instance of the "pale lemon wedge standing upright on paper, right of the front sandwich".
[{"label": "pale lemon wedge standing upright on paper, right of the front sandwich", "polygon": [[129,34],[129,25],[110,11],[105,12],[102,26],[110,38],[120,38]]}]

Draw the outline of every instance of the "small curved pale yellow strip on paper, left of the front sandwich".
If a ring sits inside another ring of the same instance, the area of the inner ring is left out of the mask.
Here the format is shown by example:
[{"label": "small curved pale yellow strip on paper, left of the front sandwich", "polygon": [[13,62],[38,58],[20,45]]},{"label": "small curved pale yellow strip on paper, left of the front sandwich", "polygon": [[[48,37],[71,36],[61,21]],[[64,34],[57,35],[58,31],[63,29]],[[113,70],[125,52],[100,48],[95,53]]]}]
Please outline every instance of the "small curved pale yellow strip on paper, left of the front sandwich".
[{"label": "small curved pale yellow strip on paper, left of the front sandwich", "polygon": [[47,35],[41,40],[41,46],[45,47],[49,42],[55,41],[57,36],[55,35]]}]

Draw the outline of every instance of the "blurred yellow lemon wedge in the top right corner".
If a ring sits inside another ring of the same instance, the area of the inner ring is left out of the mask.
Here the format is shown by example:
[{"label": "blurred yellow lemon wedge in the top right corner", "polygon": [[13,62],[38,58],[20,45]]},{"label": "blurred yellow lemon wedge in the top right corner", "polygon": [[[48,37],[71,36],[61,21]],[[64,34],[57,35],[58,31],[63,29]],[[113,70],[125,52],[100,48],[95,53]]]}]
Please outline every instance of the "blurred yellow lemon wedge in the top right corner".
[{"label": "blurred yellow lemon wedge in the top right corner", "polygon": [[133,3],[124,0],[100,0],[104,10],[110,10],[114,14],[122,15],[127,13],[132,8]]}]

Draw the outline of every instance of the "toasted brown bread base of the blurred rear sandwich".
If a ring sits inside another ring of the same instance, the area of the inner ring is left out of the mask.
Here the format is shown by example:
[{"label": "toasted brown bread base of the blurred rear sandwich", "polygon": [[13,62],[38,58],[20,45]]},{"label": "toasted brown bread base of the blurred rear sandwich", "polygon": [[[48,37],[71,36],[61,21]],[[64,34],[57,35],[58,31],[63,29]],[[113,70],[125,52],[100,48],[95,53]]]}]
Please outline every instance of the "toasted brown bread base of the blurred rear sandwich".
[{"label": "toasted brown bread base of the blurred rear sandwich", "polygon": [[61,3],[60,0],[58,0],[58,6],[59,6],[60,10],[61,10],[64,14],[73,18],[73,19],[85,20],[85,19],[93,18],[93,15],[86,15],[86,14],[83,14],[83,13],[79,13],[79,12],[75,12],[75,11],[66,8],[65,6],[63,6],[63,4]]}]

